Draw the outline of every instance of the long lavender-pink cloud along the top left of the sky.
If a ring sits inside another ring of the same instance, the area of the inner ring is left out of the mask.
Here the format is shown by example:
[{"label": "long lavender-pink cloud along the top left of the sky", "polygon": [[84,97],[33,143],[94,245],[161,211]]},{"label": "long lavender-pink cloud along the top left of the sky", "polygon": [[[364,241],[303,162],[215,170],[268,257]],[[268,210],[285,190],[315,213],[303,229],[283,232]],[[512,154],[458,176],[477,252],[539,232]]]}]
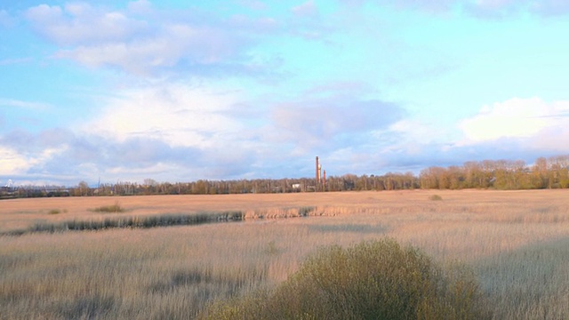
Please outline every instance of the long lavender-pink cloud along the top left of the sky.
[{"label": "long lavender-pink cloud along the top left of the sky", "polygon": [[[306,14],[317,9],[308,2],[298,10]],[[256,60],[256,44],[278,34],[319,33],[319,22],[298,21],[294,15],[281,20],[217,13],[194,7],[158,9],[141,0],[118,10],[84,3],[41,4],[25,16],[38,34],[59,46],[52,57],[137,76],[269,76],[276,72],[278,54]]]}]

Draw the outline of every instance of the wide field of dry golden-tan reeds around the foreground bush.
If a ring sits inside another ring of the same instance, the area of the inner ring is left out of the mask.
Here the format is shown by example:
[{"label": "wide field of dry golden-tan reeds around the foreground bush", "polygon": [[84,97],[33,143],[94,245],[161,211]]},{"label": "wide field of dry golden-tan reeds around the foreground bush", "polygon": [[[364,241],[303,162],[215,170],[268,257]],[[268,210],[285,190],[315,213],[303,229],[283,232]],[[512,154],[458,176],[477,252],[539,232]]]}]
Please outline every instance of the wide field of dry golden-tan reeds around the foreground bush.
[{"label": "wide field of dry golden-tan reeds around the foreground bush", "polygon": [[[213,300],[282,282],[318,247],[389,236],[471,268],[496,319],[566,319],[568,196],[413,190],[4,200],[0,318],[192,318]],[[33,231],[219,212],[243,212],[244,220]]]}]

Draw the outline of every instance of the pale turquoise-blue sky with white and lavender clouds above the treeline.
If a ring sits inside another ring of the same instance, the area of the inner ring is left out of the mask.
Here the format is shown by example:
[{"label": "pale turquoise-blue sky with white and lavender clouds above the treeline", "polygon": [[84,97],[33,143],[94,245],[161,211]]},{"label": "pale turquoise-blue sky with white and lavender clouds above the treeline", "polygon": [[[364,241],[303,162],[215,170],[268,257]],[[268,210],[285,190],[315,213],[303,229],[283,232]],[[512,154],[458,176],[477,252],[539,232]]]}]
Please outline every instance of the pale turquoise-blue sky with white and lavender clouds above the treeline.
[{"label": "pale turquoise-blue sky with white and lavender clouds above the treeline", "polygon": [[564,0],[0,0],[0,185],[566,155]]}]

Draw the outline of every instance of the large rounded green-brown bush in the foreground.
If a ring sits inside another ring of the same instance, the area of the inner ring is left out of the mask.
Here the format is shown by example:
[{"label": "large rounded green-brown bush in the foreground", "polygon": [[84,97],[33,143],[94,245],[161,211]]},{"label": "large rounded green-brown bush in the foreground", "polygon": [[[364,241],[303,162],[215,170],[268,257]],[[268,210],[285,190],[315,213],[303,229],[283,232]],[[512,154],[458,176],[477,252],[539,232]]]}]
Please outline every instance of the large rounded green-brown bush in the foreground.
[{"label": "large rounded green-brown bush in the foreground", "polygon": [[481,319],[482,306],[471,273],[383,240],[323,249],[274,291],[219,302],[204,317]]}]

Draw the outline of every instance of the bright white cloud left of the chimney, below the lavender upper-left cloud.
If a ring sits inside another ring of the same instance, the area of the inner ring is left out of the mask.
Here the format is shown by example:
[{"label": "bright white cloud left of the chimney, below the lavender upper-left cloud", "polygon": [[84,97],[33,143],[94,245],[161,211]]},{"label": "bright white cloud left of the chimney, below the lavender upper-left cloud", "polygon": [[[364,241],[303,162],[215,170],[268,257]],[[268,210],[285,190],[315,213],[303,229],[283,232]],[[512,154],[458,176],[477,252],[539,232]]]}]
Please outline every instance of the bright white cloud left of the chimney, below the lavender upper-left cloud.
[{"label": "bright white cloud left of the chimney, below the lavender upper-left cloud", "polygon": [[243,129],[229,115],[235,92],[163,84],[122,92],[103,114],[83,128],[118,140],[164,140],[171,146],[208,148],[232,140]]}]

